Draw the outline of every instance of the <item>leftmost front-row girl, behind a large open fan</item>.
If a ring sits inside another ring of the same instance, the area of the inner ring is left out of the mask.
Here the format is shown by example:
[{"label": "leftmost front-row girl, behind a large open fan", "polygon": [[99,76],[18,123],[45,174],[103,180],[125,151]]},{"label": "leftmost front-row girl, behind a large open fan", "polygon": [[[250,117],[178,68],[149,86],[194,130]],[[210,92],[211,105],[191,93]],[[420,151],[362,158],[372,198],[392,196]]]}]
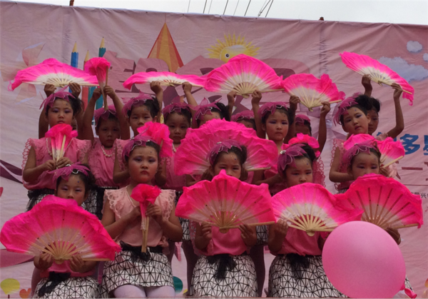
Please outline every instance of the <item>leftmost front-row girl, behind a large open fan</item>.
[{"label": "leftmost front-row girl, behind a large open fan", "polygon": [[[88,198],[94,178],[84,166],[74,164],[55,171],[55,196],[76,201],[81,206]],[[34,289],[34,298],[99,298],[99,285],[93,274],[96,262],[83,261],[79,255],[61,265],[52,255],[42,253],[34,258],[33,281],[41,280]]]}]

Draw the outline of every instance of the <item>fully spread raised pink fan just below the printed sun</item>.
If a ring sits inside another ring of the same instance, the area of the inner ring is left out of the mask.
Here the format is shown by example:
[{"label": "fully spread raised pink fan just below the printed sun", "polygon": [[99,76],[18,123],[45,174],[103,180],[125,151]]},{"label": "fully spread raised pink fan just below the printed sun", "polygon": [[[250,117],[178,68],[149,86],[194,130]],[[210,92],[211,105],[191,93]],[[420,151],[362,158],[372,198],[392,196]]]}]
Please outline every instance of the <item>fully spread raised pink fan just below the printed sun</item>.
[{"label": "fully spread raised pink fan just below the printed sun", "polygon": [[282,91],[282,77],[264,62],[245,54],[230,59],[227,64],[210,71],[205,89],[218,93],[236,91],[248,98],[255,90]]}]

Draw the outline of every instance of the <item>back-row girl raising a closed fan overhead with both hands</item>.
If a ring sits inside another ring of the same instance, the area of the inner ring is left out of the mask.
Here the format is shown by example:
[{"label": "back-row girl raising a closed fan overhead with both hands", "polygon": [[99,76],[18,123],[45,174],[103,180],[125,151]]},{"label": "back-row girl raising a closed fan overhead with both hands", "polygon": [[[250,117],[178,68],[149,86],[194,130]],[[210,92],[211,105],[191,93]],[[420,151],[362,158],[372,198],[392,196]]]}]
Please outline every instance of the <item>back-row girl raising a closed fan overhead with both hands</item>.
[{"label": "back-row girl raising a closed fan overhead with both hands", "polygon": [[[96,100],[101,96],[101,89],[96,88],[83,113],[83,138],[92,143],[91,151],[88,153],[88,163],[98,186],[89,196],[89,206],[86,205],[86,207],[100,220],[103,217],[101,211],[103,211],[104,191],[118,187],[113,182],[113,144],[121,136],[129,138],[129,128],[125,118],[121,113],[116,113],[116,111],[122,111],[121,100],[110,86],[106,86],[104,91],[113,99],[114,105],[108,106],[108,110],[99,108],[94,112]],[[95,118],[95,132],[98,138],[93,137],[92,118]]]}]

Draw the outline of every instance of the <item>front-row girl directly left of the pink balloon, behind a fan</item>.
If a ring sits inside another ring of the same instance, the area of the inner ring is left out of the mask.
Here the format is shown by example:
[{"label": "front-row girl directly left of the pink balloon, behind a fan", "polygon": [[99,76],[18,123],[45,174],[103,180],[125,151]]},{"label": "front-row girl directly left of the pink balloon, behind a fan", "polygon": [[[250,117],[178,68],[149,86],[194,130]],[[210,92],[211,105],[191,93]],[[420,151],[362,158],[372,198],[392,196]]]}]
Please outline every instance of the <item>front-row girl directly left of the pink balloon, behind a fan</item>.
[{"label": "front-row girl directly left of the pink balloon, behind a fan", "polygon": [[[312,183],[315,152],[308,145],[294,144],[282,151],[277,169],[287,187]],[[270,252],[276,255],[269,269],[268,297],[338,298],[322,268],[324,239],[319,232],[312,237],[303,230],[288,228],[285,221],[270,225]]]}]

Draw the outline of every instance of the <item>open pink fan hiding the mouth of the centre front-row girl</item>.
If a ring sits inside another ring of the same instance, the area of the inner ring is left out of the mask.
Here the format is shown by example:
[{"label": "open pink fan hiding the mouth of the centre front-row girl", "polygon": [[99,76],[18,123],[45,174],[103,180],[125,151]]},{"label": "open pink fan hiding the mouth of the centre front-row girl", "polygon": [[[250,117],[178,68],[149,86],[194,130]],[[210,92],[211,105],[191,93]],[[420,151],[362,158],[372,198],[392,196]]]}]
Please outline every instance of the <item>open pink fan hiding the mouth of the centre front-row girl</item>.
[{"label": "open pink fan hiding the mouth of the centre front-row girl", "polygon": [[267,185],[245,183],[224,170],[213,181],[184,187],[175,215],[198,223],[208,222],[223,233],[240,224],[275,223]]}]

